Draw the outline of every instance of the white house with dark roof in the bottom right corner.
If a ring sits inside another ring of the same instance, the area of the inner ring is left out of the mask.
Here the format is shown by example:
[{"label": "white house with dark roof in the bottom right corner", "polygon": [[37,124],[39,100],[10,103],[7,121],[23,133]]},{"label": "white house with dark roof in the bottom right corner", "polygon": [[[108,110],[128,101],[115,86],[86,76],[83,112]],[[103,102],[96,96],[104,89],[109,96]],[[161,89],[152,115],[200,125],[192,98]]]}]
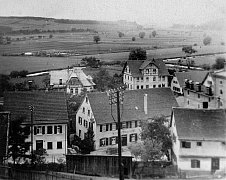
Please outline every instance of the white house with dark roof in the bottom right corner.
[{"label": "white house with dark roof in the bottom right corner", "polygon": [[225,109],[173,108],[172,162],[187,175],[226,170]]}]

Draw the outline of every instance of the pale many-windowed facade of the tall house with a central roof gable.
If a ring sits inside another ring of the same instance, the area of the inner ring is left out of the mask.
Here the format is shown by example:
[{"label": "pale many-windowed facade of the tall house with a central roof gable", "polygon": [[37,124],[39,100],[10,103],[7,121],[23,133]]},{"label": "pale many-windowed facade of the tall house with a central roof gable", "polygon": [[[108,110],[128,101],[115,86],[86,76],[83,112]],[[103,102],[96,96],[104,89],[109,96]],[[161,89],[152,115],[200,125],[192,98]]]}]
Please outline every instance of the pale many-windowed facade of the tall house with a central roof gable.
[{"label": "pale many-windowed facade of the tall house with a central roof gable", "polygon": [[154,64],[150,63],[141,74],[140,77],[133,77],[129,66],[126,66],[123,83],[127,85],[128,90],[168,87],[168,76],[159,75],[158,67]]}]

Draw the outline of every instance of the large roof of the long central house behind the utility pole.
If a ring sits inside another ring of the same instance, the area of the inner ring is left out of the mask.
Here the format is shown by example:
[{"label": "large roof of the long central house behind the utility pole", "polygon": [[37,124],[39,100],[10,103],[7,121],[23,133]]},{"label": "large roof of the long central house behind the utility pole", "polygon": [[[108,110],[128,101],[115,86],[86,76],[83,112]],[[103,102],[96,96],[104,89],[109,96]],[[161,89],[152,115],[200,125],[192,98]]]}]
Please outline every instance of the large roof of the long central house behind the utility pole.
[{"label": "large roof of the long central house behind the utility pole", "polygon": [[[147,94],[147,115],[144,113],[144,94]],[[88,98],[97,124],[113,122],[107,93],[89,93]],[[172,107],[177,106],[170,88],[125,91],[121,108],[122,121],[145,120],[160,115],[170,116]],[[117,120],[116,105],[112,105],[112,113]]]}]

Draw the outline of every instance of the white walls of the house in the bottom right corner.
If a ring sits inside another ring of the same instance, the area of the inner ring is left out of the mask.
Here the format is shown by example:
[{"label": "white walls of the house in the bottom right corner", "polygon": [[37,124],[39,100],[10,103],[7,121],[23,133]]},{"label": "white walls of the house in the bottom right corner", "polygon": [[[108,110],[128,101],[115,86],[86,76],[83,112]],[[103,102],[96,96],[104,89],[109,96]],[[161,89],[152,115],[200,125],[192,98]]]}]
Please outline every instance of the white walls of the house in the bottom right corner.
[{"label": "white walls of the house in the bottom right corner", "polygon": [[173,137],[172,162],[178,165],[179,170],[188,175],[226,171],[226,142],[179,139],[174,116],[170,130]]}]

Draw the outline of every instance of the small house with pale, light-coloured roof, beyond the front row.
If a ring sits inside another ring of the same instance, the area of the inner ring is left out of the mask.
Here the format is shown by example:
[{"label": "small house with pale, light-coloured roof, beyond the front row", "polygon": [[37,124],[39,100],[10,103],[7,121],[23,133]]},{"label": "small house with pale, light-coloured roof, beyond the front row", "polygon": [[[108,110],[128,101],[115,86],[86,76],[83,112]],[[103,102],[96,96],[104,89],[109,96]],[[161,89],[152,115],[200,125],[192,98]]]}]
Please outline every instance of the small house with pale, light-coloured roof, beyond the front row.
[{"label": "small house with pale, light-coloured roof, beyond the front row", "polygon": [[50,86],[57,91],[80,94],[83,90],[92,91],[95,83],[91,76],[87,76],[81,67],[73,69],[51,70]]}]

